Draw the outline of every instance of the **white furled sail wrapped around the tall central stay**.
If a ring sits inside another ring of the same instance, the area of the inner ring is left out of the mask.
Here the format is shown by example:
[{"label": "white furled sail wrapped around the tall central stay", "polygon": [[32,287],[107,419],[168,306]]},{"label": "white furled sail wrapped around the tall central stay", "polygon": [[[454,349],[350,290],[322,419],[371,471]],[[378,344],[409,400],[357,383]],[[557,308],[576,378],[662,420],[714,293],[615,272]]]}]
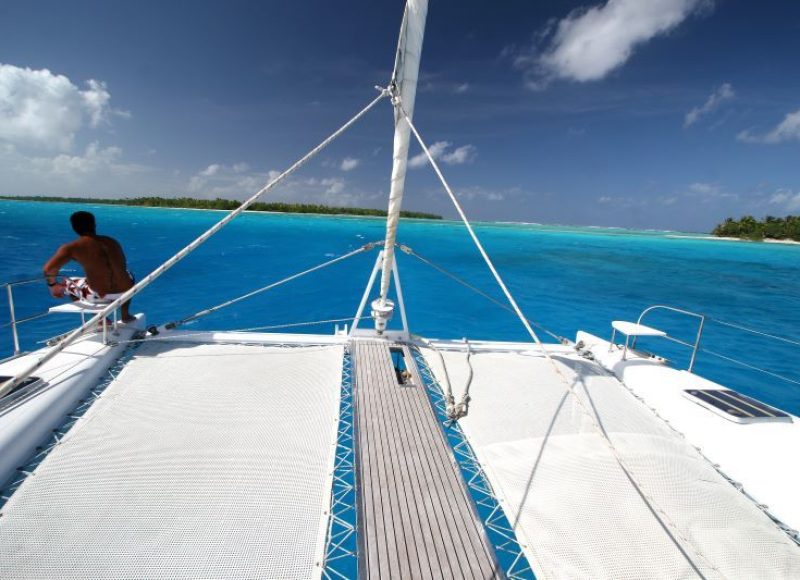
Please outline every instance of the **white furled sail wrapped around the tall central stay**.
[{"label": "white furled sail wrapped around the tall central stay", "polygon": [[[394,63],[392,83],[408,113],[414,117],[414,101],[417,97],[417,78],[422,54],[422,38],[425,34],[425,18],[428,15],[428,0],[408,0],[400,28],[397,44],[397,57]],[[386,218],[386,244],[384,245],[383,270],[381,272],[381,299],[386,299],[394,264],[394,242],[397,237],[397,223],[400,219],[400,206],[403,203],[403,190],[406,182],[408,144],[411,128],[395,110],[394,114],[394,152],[392,161],[392,181],[389,189],[389,209]]]}]

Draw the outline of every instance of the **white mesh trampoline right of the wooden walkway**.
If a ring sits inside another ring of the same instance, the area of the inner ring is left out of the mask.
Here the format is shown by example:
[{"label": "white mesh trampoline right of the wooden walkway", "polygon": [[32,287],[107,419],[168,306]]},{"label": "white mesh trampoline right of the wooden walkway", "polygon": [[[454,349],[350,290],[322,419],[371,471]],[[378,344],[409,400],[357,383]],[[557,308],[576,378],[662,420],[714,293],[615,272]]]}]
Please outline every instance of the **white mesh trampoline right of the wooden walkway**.
[{"label": "white mesh trampoline right of the wooden walkway", "polygon": [[[540,354],[473,353],[460,423],[538,578],[800,577],[800,549],[691,445],[598,365],[552,348],[651,505]],[[458,397],[465,355],[443,354]]]}]

